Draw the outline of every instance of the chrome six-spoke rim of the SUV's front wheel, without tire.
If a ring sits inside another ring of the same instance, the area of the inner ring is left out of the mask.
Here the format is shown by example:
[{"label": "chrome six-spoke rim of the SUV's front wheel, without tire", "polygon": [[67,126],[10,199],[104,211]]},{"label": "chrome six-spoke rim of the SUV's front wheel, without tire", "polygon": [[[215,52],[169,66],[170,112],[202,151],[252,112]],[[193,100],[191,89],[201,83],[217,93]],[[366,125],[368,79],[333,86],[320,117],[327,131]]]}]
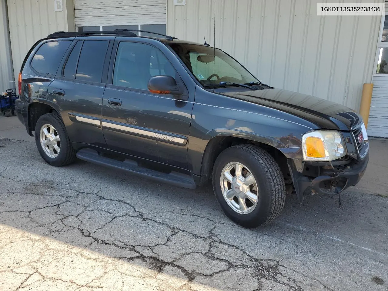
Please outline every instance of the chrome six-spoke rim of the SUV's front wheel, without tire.
[{"label": "chrome six-spoke rim of the SUV's front wheel, without tire", "polygon": [[241,163],[227,164],[221,172],[221,191],[228,203],[237,213],[252,212],[258,200],[258,187],[251,171]]}]

